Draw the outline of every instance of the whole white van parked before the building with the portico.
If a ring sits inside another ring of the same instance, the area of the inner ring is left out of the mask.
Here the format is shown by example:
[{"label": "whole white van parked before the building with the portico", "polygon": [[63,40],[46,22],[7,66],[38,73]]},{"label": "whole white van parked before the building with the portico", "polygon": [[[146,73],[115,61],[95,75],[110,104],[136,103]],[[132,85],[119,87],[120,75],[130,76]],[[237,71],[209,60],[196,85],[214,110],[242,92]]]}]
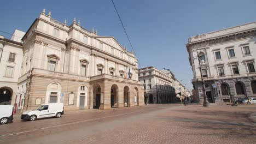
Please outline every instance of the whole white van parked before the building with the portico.
[{"label": "whole white van parked before the building with the portico", "polygon": [[43,104],[36,109],[31,111],[25,111],[21,115],[21,119],[34,121],[37,118],[46,118],[46,117],[61,117],[64,114],[63,103],[50,103]]}]

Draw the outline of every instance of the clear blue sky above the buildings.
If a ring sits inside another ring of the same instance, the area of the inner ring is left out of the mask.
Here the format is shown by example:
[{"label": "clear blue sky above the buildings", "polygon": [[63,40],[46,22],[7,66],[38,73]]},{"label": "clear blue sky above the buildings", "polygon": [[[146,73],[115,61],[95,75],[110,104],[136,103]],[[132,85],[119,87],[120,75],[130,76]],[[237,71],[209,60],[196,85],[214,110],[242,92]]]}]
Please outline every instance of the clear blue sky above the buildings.
[{"label": "clear blue sky above the buildings", "polygon": [[[192,89],[193,72],[185,44],[190,36],[256,21],[256,1],[139,1],[114,0],[141,67],[171,69]],[[112,35],[131,50],[111,0],[95,1],[1,1],[0,30],[27,31],[39,13],[71,24],[73,18],[100,35]],[[0,32],[10,38],[10,35]]]}]

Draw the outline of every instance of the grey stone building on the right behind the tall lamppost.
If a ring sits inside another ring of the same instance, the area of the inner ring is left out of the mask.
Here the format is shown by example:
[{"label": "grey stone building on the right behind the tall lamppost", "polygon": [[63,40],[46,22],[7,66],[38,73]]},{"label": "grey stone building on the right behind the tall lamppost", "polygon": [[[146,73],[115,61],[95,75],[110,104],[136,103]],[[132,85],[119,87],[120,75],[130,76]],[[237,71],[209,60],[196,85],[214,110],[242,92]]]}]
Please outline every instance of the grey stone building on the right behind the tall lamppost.
[{"label": "grey stone building on the right behind the tall lamppost", "polygon": [[197,102],[202,101],[197,53],[210,103],[256,96],[256,22],[190,37],[187,50]]}]

